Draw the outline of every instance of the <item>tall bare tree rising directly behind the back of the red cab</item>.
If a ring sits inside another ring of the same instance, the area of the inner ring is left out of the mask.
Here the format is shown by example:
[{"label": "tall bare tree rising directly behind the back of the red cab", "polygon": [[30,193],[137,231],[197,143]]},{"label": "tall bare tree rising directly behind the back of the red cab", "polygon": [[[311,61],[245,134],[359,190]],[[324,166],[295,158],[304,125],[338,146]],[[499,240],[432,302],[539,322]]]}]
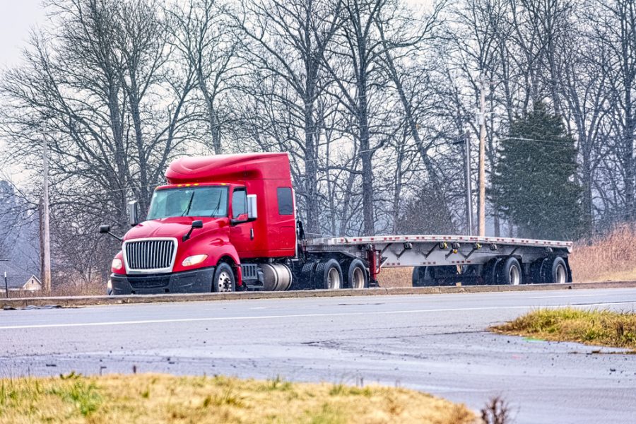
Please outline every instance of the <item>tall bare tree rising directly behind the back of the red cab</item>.
[{"label": "tall bare tree rising directly behind the back of the red cab", "polygon": [[266,83],[271,88],[268,93],[258,93],[284,111],[278,118],[288,131],[277,136],[302,163],[304,171],[296,179],[298,194],[305,205],[307,232],[317,233],[319,122],[323,119],[317,114],[317,102],[326,85],[322,57],[338,27],[341,5],[322,0],[265,0],[245,2],[243,7],[237,26],[248,40],[244,48],[253,72],[249,90],[277,81],[276,85]]}]

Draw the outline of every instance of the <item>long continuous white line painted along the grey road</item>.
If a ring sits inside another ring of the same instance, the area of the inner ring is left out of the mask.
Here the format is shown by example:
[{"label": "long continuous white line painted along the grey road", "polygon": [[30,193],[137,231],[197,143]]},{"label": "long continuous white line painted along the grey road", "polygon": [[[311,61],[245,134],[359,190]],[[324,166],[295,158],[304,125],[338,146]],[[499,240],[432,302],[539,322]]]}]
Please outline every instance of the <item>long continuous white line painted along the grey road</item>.
[{"label": "long continuous white line painted along the grey road", "polygon": [[[603,305],[615,305],[616,302],[589,303],[587,305],[572,305],[572,307],[591,307]],[[53,329],[81,326],[110,326],[110,325],[134,325],[134,324],[167,324],[171,322],[211,322],[211,321],[246,321],[254,319],[278,319],[278,318],[302,318],[302,317],[353,317],[387,314],[425,314],[427,312],[458,312],[458,311],[483,311],[483,310],[515,310],[531,309],[536,307],[563,307],[567,305],[524,305],[501,307],[457,307],[432,310],[406,310],[406,311],[375,311],[375,312],[340,312],[337,314],[288,314],[288,315],[262,315],[259,317],[206,317],[206,318],[175,318],[175,319],[142,319],[138,321],[112,321],[112,322],[73,322],[69,324],[30,324],[0,326],[0,330],[18,329]]]}]

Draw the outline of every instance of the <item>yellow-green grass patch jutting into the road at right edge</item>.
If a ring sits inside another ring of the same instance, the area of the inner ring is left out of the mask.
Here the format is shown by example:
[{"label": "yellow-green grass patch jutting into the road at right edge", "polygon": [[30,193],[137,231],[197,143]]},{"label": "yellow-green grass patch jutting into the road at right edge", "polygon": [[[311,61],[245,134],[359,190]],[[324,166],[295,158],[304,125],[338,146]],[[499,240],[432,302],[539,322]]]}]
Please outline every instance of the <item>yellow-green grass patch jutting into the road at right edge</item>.
[{"label": "yellow-green grass patch jutting into the road at right edge", "polygon": [[541,309],[491,330],[552,341],[576,341],[636,351],[636,314],[572,307]]}]

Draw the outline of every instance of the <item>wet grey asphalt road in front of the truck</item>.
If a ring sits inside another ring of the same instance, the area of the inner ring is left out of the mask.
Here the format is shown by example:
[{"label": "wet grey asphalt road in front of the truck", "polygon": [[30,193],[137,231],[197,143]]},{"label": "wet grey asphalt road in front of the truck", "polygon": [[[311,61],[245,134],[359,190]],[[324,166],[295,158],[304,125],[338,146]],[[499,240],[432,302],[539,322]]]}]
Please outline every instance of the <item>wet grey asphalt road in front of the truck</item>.
[{"label": "wet grey asphalt road in front of the truck", "polygon": [[[0,377],[170,372],[400,385],[516,423],[636,423],[636,355],[490,334],[541,306],[635,310],[636,289],[0,311]],[[599,353],[600,351],[600,353]]]}]

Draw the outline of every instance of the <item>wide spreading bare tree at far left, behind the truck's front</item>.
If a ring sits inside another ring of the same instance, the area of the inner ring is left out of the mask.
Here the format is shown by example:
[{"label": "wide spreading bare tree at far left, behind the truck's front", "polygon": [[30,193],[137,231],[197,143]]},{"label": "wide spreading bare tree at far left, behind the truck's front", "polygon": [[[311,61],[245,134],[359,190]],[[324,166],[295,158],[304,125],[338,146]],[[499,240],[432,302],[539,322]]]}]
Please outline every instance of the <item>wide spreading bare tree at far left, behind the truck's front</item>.
[{"label": "wide spreading bare tree at far left, behind the truck's front", "polygon": [[189,136],[192,71],[168,69],[166,33],[151,4],[51,7],[59,27],[33,35],[25,64],[0,84],[2,134],[11,158],[35,170],[47,142],[54,216],[93,230],[99,222],[125,228],[126,201],[137,196],[145,210],[150,187]]}]

